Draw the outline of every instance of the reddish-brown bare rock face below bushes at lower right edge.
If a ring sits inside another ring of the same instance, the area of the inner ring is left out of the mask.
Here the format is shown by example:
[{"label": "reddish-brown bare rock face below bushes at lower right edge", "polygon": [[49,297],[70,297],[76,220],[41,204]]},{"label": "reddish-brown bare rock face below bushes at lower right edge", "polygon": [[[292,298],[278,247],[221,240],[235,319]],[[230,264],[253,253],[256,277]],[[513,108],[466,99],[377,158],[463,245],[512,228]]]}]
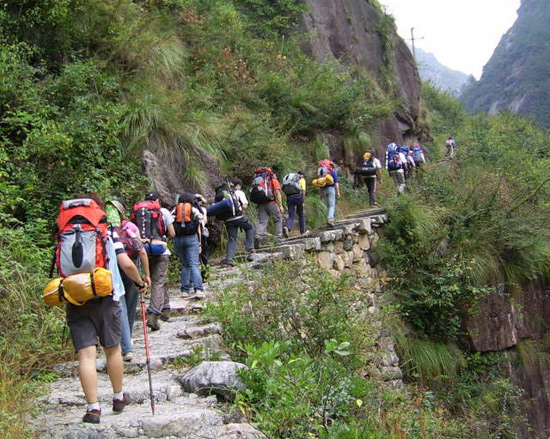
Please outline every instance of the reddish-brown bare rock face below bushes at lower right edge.
[{"label": "reddish-brown bare rock face below bushes at lower right edge", "polygon": [[[478,352],[511,350],[523,342],[533,352],[518,355],[510,374],[524,390],[523,401],[531,431],[524,438],[546,439],[550,434],[550,363],[540,344],[550,330],[550,284],[540,279],[522,285],[519,295],[488,296],[466,321],[472,348]],[[524,349],[525,351],[525,349]]]}]

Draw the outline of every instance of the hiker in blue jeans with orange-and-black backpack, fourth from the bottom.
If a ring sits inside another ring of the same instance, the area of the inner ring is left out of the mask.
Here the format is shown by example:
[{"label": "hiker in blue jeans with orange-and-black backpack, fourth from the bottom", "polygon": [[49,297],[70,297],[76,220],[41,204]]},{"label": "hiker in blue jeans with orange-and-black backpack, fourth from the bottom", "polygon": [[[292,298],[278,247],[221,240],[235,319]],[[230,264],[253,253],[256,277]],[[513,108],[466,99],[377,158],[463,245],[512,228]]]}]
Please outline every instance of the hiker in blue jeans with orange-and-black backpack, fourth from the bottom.
[{"label": "hiker in blue jeans with orange-and-black backpack, fourth from the bottom", "polygon": [[[206,209],[198,204],[195,194],[184,193],[175,209],[174,246],[181,261],[181,294],[183,297],[204,299],[200,269],[202,227],[206,225]],[[194,294],[190,295],[191,285]]]}]

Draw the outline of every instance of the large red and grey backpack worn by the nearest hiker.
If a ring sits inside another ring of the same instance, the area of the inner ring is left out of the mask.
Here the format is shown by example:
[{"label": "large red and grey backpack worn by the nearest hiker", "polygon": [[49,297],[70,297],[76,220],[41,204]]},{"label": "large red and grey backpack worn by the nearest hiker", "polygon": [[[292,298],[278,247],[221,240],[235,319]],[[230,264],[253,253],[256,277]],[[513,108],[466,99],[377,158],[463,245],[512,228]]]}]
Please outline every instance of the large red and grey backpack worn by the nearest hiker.
[{"label": "large red and grey backpack worn by the nearest hiker", "polygon": [[55,263],[61,277],[108,268],[107,217],[94,200],[63,201],[57,227]]}]

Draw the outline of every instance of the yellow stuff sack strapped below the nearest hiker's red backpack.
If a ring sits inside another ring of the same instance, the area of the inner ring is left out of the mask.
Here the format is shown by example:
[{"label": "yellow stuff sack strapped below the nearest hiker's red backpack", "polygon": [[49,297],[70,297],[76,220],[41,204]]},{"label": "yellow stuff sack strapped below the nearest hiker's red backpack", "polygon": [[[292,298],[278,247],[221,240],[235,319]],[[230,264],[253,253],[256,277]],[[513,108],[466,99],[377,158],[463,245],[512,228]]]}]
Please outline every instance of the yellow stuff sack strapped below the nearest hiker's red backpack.
[{"label": "yellow stuff sack strapped below the nearest hiker's red backpack", "polygon": [[78,273],[53,279],[44,288],[42,298],[49,306],[67,303],[82,306],[90,299],[109,296],[112,292],[111,272],[98,267],[93,273]]}]

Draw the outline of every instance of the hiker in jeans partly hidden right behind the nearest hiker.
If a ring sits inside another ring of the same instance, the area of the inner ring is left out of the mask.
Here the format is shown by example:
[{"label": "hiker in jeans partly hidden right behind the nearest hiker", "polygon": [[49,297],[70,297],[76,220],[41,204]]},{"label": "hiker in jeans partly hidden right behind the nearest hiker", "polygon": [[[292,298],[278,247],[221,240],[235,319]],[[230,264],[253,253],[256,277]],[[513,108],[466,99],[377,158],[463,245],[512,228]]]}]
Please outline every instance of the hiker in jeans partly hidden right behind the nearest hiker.
[{"label": "hiker in jeans partly hidden right behind the nearest hiker", "polygon": [[[105,206],[107,214],[107,222],[112,230],[114,230],[120,242],[124,246],[124,250],[134,265],[140,269],[143,267],[145,273],[145,281],[148,285],[151,284],[151,275],[149,272],[149,258],[147,252],[141,242],[139,230],[137,226],[125,219],[126,208],[120,200],[110,200]],[[134,321],[136,318],[136,308],[139,299],[136,284],[124,273],[120,272],[122,282],[124,283],[124,296],[120,299],[122,306],[122,340],[121,349],[124,361],[132,361],[134,358],[134,346],[132,344],[132,333]]]}]

